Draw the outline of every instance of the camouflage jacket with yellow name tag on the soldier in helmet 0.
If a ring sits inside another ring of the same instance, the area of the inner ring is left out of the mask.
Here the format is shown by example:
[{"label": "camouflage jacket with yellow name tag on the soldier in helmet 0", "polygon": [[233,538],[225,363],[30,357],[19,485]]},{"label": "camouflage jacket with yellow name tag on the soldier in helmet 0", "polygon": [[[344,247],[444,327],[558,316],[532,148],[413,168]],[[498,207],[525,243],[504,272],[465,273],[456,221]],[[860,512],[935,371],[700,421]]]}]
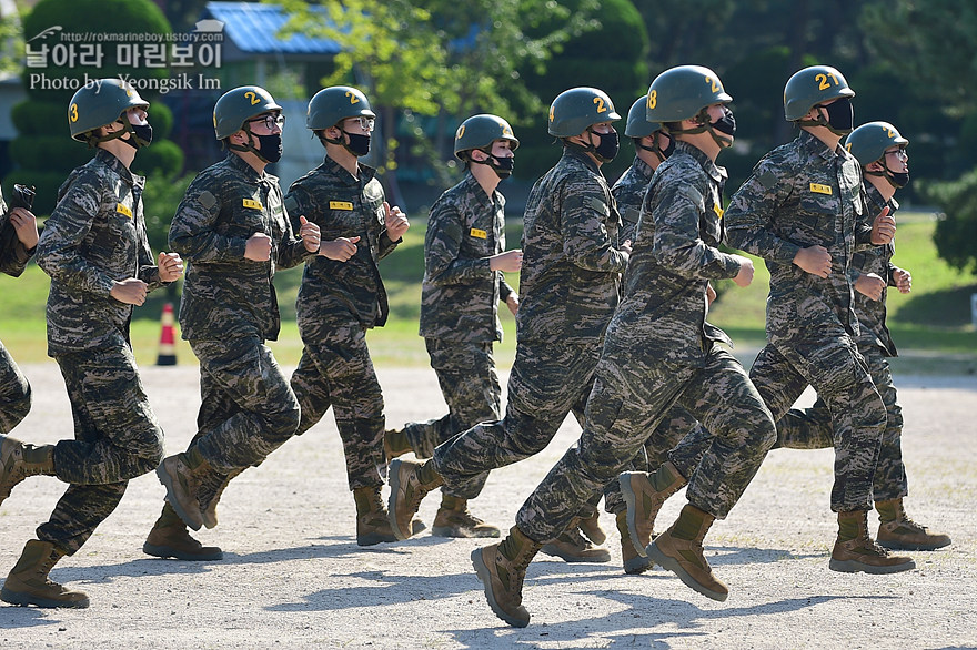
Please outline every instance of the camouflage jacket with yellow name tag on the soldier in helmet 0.
[{"label": "camouflage jacket with yellow name tag on the soldier in helmet 0", "polygon": [[502,341],[498,301],[513,290],[488,257],[505,251],[505,197],[490,197],[471,172],[427,216],[421,336],[466,343]]}]

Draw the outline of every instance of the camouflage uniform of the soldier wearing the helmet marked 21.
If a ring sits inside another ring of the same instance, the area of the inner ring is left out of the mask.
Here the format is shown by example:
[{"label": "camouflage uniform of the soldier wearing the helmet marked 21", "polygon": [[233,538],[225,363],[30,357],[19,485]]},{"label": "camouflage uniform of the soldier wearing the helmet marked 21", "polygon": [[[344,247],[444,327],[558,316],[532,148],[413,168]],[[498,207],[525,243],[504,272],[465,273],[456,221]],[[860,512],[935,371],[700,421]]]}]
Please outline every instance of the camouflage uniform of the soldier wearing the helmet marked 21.
[{"label": "camouflage uniform of the soldier wearing the helmet marked 21", "polygon": [[[767,345],[751,378],[779,420],[810,385],[834,417],[832,510],[869,510],[886,422],[885,406],[858,354],[849,267],[856,244],[870,244],[858,162],[806,131],[761,160],[726,212],[731,245],[766,260],[770,271]],[[793,263],[820,245],[827,278]]]}]

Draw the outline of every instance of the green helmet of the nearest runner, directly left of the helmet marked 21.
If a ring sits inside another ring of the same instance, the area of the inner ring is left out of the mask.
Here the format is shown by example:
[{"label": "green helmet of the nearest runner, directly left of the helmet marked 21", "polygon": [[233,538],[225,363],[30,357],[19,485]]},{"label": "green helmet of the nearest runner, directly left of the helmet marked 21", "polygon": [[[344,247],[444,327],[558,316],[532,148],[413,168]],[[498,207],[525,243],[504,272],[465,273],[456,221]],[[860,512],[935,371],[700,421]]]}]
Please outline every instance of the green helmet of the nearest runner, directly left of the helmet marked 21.
[{"label": "green helmet of the nearest runner, directly left of the helmet marked 21", "polygon": [[681,122],[697,116],[706,106],[732,101],[719,77],[708,68],[677,65],[652,81],[645,119],[648,122]]}]

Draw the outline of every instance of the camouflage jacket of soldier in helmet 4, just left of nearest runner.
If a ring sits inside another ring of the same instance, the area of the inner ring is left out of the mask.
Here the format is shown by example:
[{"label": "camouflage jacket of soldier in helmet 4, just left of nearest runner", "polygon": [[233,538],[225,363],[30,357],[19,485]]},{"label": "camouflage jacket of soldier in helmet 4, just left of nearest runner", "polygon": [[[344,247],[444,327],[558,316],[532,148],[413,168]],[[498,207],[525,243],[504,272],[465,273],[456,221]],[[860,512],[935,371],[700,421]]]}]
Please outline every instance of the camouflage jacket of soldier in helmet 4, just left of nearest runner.
[{"label": "camouflage jacket of soldier in helmet 4, just left of nearest runner", "polygon": [[568,146],[526,203],[516,332],[521,341],[602,341],[617,306],[627,253],[611,187],[586,154]]}]

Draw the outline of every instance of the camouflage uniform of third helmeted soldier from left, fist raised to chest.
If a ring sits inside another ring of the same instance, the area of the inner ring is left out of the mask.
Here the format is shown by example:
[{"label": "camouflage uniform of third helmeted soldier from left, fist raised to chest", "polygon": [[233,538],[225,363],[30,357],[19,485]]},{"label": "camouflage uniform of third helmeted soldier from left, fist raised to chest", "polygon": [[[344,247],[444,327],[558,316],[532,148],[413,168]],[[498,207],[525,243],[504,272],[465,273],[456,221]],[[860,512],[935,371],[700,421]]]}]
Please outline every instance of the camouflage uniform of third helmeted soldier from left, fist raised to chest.
[{"label": "camouflage uniform of third helmeted soldier from left, fist raised to chest", "polygon": [[333,407],[351,490],[382,486],[386,474],[383,395],[366,348],[366,329],[389,313],[377,262],[400,243],[386,234],[383,201],[372,169],[360,165],[357,179],[329,156],[285,197],[293,219],[319,225],[323,241],[360,237],[349,261],[316,256],[305,265],[296,303],[305,348],[291,382],[302,407],[298,433]]}]

